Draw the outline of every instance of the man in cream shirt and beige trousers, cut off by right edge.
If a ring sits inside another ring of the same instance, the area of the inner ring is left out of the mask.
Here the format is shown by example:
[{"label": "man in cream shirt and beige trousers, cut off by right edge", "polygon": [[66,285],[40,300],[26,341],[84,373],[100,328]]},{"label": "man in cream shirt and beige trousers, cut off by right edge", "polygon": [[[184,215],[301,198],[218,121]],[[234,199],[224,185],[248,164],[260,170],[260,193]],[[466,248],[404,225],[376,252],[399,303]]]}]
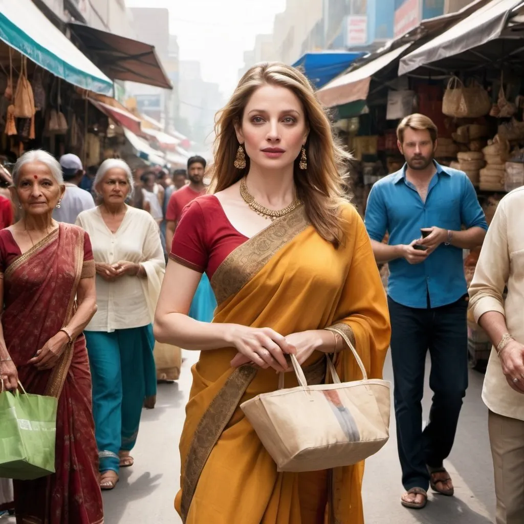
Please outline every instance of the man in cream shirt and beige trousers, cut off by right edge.
[{"label": "man in cream shirt and beige trousers, cut off by right edge", "polygon": [[470,287],[475,320],[494,345],[482,399],[489,408],[497,524],[524,522],[523,209],[524,187],[501,200]]}]

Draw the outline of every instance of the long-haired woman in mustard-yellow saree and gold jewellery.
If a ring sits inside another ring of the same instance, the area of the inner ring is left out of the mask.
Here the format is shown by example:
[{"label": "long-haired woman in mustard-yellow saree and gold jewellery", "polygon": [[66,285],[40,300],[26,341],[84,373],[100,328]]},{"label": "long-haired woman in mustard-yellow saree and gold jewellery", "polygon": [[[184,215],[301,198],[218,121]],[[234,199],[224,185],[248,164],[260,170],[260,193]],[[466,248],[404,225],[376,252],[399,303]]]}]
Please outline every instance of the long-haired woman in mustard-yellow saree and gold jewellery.
[{"label": "long-haired woman in mustard-yellow saree and gold jewellery", "polygon": [[[386,297],[364,224],[342,198],[346,158],[307,79],[286,65],[250,69],[221,114],[214,194],[182,215],[155,316],[159,341],[201,351],[180,441],[175,507],[186,524],[364,522],[363,464],[277,472],[239,408],[278,388],[289,353],[308,383],[325,380],[326,354],[343,381],[362,378],[340,333],[381,376]],[[212,323],[187,316],[204,271]],[[294,374],[285,383],[297,386]]]}]

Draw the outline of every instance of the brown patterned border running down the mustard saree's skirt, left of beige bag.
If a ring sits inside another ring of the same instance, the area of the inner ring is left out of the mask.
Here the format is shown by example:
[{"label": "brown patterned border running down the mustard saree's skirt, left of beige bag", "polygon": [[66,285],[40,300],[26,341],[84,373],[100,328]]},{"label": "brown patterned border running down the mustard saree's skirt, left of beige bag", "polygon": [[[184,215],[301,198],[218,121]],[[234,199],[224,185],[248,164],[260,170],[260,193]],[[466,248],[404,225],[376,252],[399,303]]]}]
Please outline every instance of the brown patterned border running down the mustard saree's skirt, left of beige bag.
[{"label": "brown patterned border running down the mustard saree's skirt, left of beige bag", "polygon": [[200,474],[208,461],[211,450],[219,440],[222,431],[233,417],[238,402],[247,387],[255,378],[257,368],[242,366],[233,371],[224,386],[211,401],[196,427],[193,441],[185,460],[184,478],[182,480],[181,514],[182,522],[188,517],[189,508],[198,484]]}]

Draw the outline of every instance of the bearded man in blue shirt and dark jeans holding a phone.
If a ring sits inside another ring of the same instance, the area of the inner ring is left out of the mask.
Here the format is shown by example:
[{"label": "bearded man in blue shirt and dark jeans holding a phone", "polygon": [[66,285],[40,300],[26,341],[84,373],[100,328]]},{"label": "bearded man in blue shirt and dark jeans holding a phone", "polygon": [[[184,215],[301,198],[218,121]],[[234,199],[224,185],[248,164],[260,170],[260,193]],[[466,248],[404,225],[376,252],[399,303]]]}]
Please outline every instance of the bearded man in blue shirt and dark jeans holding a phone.
[{"label": "bearded man in blue shirt and dark jeans holding a phone", "polygon": [[[366,228],[375,258],[389,264],[388,305],[402,505],[422,508],[429,485],[453,495],[443,467],[467,388],[467,288],[463,249],[482,244],[487,224],[466,174],[433,159],[437,128],[413,114],[397,129],[406,158],[369,193]],[[462,226],[465,227],[462,230]],[[382,243],[386,232],[388,244]],[[427,352],[433,403],[422,431]]]}]

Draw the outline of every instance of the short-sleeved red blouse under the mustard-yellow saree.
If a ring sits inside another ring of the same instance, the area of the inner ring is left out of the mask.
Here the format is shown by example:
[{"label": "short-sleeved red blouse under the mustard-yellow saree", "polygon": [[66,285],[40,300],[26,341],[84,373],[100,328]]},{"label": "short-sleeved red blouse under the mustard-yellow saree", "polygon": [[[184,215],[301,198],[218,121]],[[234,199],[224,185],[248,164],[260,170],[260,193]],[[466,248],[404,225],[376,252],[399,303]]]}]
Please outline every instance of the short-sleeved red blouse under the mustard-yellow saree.
[{"label": "short-sleeved red blouse under the mustard-yellow saree", "polygon": [[213,277],[215,271],[248,237],[227,219],[215,195],[203,195],[186,206],[174,231],[169,257]]}]

